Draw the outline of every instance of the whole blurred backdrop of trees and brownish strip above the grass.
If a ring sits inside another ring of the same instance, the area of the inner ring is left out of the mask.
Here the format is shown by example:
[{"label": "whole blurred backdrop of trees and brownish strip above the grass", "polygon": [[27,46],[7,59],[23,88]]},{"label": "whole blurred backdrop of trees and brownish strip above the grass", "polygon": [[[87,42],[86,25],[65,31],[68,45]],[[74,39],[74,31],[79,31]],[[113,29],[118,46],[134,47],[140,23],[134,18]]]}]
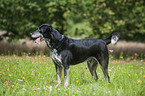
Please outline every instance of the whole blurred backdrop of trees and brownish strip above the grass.
[{"label": "whole blurred backdrop of trees and brownish strip above the grass", "polygon": [[144,0],[0,0],[0,55],[49,56],[44,41],[30,37],[41,24],[73,38],[102,39],[116,30],[121,38],[108,46],[110,55],[145,58]]}]

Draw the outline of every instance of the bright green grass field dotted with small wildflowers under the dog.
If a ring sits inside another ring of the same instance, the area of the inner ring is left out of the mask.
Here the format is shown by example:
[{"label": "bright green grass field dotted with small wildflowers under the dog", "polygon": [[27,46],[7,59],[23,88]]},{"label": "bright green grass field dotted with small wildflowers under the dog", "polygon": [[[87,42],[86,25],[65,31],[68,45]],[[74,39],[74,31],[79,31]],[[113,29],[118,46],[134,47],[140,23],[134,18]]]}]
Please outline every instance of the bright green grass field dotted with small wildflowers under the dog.
[{"label": "bright green grass field dotted with small wildflowers under the dog", "polygon": [[[0,56],[0,96],[145,96],[145,61],[110,60],[111,83],[97,68],[95,82],[86,63],[70,66],[70,85],[56,88],[53,62],[46,56]],[[62,78],[63,80],[63,78]]]}]

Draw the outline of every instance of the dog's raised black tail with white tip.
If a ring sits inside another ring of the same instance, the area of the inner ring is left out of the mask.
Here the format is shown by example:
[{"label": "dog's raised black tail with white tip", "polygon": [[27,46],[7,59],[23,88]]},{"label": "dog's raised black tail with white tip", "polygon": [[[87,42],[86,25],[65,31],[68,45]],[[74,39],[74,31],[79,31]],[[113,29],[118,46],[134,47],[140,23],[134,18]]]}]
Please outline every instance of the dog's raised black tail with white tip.
[{"label": "dog's raised black tail with white tip", "polygon": [[106,39],[103,39],[106,44],[116,44],[117,41],[119,40],[119,37],[120,37],[120,32],[112,32],[111,35],[109,37],[107,37]]}]

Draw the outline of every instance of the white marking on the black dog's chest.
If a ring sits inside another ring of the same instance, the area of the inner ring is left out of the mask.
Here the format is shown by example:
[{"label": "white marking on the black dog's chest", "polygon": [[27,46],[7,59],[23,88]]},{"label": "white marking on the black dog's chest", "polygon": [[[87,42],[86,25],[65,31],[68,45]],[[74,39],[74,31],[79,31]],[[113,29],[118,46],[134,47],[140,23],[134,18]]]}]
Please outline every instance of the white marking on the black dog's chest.
[{"label": "white marking on the black dog's chest", "polygon": [[62,66],[61,55],[57,53],[56,49],[51,49],[50,56],[56,64]]}]

